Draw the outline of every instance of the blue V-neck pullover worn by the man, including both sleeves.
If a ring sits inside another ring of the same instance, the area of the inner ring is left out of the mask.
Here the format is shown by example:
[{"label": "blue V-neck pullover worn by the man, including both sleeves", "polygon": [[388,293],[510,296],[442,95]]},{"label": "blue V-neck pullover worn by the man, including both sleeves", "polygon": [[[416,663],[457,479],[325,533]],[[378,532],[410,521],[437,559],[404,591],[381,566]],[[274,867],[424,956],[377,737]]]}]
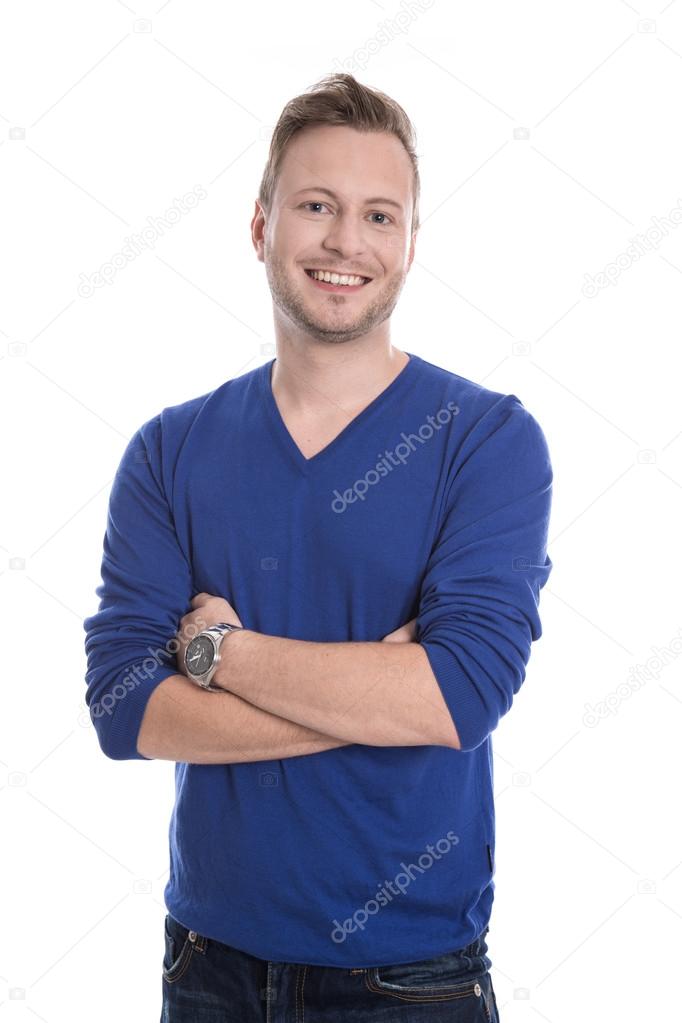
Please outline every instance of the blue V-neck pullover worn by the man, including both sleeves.
[{"label": "blue V-neck pullover worn by the man, including both sleeves", "polygon": [[173,640],[201,591],[293,639],[378,641],[416,617],[460,737],[175,765],[167,908],[263,960],[410,963],[490,920],[491,733],[542,634],[552,469],[515,395],[407,354],[312,458],[279,413],[272,359],[144,422],[110,492],[84,621],[106,756],[147,759],[144,709],[178,673]]}]

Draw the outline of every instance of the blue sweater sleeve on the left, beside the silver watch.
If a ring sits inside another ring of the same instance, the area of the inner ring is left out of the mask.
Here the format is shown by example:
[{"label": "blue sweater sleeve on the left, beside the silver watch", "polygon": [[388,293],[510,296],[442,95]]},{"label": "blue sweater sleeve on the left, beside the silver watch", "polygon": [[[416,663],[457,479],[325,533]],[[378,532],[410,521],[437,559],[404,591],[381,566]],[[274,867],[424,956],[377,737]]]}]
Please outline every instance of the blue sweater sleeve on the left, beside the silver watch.
[{"label": "blue sweater sleeve on the left, beside the silver watch", "polygon": [[190,611],[192,573],[174,528],[162,474],[162,413],[131,438],[109,495],[97,612],[86,618],[86,703],[103,753],[137,750],[147,701],[178,674],[174,637]]}]

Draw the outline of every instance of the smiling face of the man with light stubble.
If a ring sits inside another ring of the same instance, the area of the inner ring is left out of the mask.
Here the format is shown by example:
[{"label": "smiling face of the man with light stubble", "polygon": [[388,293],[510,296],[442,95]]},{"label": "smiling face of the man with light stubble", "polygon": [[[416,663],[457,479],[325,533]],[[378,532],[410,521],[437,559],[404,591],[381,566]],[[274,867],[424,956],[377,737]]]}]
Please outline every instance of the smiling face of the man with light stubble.
[{"label": "smiling face of the man with light stubble", "polygon": [[[395,135],[326,125],[298,132],[270,215],[257,201],[252,223],[282,329],[329,344],[378,333],[414,258],[412,204],[412,165]],[[307,270],[370,280],[320,284]]]}]

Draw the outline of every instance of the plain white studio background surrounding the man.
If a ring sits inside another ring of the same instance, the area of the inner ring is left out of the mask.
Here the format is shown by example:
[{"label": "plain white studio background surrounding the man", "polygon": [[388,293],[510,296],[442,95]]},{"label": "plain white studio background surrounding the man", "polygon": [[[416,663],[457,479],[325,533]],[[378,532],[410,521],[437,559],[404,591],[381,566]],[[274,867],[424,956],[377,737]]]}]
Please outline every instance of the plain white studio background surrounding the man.
[{"label": "plain white studio background surrounding the man", "polygon": [[494,739],[501,1019],[678,1011],[682,2],[71,0],[0,25],[2,1023],[158,1018],[173,765],[99,750],[82,622],[132,433],[275,354],[257,188],[283,104],[342,70],[417,129],[394,344],[517,395],[554,468]]}]

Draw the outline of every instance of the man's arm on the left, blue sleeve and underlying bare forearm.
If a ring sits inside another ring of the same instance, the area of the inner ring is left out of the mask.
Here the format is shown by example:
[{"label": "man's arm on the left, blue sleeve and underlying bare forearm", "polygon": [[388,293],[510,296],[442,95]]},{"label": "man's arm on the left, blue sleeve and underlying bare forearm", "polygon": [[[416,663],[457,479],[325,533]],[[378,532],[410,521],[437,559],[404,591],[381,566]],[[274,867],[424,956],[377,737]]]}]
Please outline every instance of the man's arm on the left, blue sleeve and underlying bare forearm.
[{"label": "man's arm on the left, blue sleeve and underlying bare forearm", "polygon": [[[352,745],[235,694],[204,693],[178,672],[171,640],[195,586],[167,499],[164,418],[143,424],[124,451],[109,496],[99,608],[83,623],[86,703],[102,751],[113,760],[230,763]],[[414,635],[403,626],[389,638]]]}]

